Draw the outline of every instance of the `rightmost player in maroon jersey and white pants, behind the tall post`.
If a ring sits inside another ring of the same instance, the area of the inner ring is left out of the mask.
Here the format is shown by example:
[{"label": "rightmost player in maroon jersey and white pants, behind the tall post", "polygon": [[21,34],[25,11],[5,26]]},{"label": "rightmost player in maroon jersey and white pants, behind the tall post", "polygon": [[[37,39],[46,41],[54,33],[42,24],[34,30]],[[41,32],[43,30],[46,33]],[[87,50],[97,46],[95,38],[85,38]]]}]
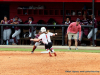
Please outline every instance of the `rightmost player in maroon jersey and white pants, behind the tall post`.
[{"label": "rightmost player in maroon jersey and white pants, behind the tall post", "polygon": [[[91,19],[93,19],[93,15],[91,15]],[[92,20],[90,21],[90,25],[92,25]],[[94,36],[94,42],[95,42],[95,46],[96,46],[96,33],[98,31],[98,28],[97,28],[97,20],[96,18],[94,18],[94,35],[93,35],[93,29],[91,29],[91,31],[89,32],[88,34],[88,39],[90,40],[90,45],[92,46],[93,45],[93,42],[92,42],[92,36]]]}]

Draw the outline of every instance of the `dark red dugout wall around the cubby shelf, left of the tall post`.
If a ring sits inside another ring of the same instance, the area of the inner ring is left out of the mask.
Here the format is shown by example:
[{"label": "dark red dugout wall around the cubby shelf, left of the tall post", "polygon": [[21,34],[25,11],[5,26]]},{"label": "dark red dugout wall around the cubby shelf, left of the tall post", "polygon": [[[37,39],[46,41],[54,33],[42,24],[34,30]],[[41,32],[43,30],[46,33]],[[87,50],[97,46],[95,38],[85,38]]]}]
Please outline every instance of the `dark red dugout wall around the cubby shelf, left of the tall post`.
[{"label": "dark red dugout wall around the cubby shelf, left of the tall post", "polygon": [[[10,4],[10,19],[13,18],[15,15],[19,16],[23,21],[26,21],[28,17],[31,15],[18,15],[17,14],[17,7],[18,6],[38,6],[38,5],[44,5],[46,6],[46,9],[62,9],[63,5],[62,3],[11,3]],[[62,16],[32,16],[34,18],[34,21],[37,22],[38,20],[44,20],[47,22],[49,18],[54,18],[58,23],[62,23],[63,17]]]}]

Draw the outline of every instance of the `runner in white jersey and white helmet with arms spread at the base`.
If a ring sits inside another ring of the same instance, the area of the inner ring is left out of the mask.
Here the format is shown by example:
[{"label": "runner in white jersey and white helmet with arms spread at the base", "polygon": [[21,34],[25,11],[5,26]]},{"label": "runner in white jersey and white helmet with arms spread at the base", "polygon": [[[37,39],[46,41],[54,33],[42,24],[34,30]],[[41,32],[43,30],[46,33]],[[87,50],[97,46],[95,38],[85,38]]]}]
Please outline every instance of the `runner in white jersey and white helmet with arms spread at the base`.
[{"label": "runner in white jersey and white helmet with arms spread at the base", "polygon": [[[45,49],[48,51],[49,55],[52,56],[51,52],[53,52],[54,55],[56,56],[56,53],[55,53],[54,49],[52,48],[52,42],[51,42],[50,36],[55,36],[55,35],[57,35],[57,33],[53,34],[53,33],[50,33],[49,31],[46,32],[45,27],[41,27],[41,33],[42,34],[38,38],[30,39],[30,41],[35,41],[36,43],[42,42],[45,45]],[[34,50],[37,47],[36,43],[33,47],[32,53],[34,52]],[[40,44],[38,44],[38,45],[40,45]]]}]

